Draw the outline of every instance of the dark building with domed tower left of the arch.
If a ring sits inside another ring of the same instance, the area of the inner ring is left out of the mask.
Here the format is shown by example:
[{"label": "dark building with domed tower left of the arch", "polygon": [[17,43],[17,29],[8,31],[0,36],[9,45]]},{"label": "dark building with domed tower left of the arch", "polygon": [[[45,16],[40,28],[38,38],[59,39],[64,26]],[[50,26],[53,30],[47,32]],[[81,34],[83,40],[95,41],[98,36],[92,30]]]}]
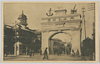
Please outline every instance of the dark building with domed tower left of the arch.
[{"label": "dark building with domed tower left of the arch", "polygon": [[[41,47],[41,33],[27,27],[27,16],[19,15],[14,26],[4,25],[4,54],[14,54],[16,56],[29,54],[29,49],[39,52]],[[40,38],[40,39],[39,39]],[[38,44],[38,45],[37,45]],[[37,47],[36,49],[34,47]]]}]

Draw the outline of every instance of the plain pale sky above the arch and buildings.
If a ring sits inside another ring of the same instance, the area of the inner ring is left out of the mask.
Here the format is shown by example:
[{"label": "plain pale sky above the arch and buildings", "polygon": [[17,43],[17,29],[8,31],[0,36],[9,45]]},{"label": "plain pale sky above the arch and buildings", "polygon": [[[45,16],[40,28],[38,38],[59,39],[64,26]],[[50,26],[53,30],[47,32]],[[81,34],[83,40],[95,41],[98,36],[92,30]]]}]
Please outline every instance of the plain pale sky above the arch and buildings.
[{"label": "plain pale sky above the arch and buildings", "polygon": [[[14,25],[14,22],[21,15],[22,10],[27,16],[27,23],[30,29],[41,29],[41,23],[44,22],[42,18],[47,17],[46,13],[52,8],[52,13],[58,9],[58,7],[67,10],[67,14],[70,14],[76,4],[77,13],[82,14],[82,8],[85,8],[85,20],[86,20],[86,35],[92,38],[93,22],[94,22],[94,10],[88,11],[87,3],[5,3],[3,5],[3,21],[4,24]],[[54,13],[55,15],[55,13]]]}]

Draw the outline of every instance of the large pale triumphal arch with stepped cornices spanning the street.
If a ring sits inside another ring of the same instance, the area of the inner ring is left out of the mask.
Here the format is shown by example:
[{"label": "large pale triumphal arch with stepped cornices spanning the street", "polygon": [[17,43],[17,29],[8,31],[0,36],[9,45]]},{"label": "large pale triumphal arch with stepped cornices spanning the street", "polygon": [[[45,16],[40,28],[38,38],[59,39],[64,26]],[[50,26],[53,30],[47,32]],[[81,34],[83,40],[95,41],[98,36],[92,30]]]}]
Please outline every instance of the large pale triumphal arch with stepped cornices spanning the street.
[{"label": "large pale triumphal arch with stepped cornices spanning the street", "polygon": [[[76,52],[79,50],[80,53],[80,42],[81,42],[81,14],[73,12],[67,14],[66,9],[55,10],[55,14],[46,13],[47,17],[42,18],[42,53],[44,53],[45,48],[53,51],[53,44],[50,39],[59,33],[68,34],[71,39],[72,50]],[[65,43],[66,44],[66,43]],[[50,49],[51,47],[51,49]]]}]

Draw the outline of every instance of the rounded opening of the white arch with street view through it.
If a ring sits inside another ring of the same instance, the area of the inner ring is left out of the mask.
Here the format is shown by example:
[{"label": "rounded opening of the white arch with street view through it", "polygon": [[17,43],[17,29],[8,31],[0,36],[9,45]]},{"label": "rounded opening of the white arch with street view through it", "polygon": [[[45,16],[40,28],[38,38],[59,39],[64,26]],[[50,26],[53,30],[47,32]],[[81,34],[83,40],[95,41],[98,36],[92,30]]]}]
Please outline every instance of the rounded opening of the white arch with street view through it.
[{"label": "rounded opening of the white arch with street view through it", "polygon": [[[66,54],[69,45],[71,52],[72,36],[66,32],[56,32],[49,37],[49,53],[50,54]],[[69,52],[69,53],[70,53]]]}]

